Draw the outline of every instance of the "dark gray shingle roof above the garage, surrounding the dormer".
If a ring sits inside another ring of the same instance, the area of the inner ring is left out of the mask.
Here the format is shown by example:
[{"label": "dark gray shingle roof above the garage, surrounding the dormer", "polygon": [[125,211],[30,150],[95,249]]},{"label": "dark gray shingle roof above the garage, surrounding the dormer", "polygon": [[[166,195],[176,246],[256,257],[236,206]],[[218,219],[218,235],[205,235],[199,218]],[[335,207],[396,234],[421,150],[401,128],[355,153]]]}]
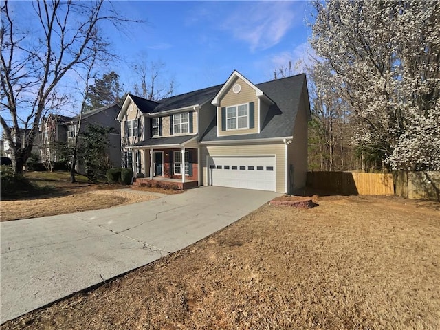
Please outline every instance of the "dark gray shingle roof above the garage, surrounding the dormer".
[{"label": "dark gray shingle roof above the garage, surrounding the dormer", "polygon": [[[293,136],[296,114],[301,94],[306,86],[305,74],[268,81],[255,85],[275,102],[265,118],[261,118],[260,133],[217,137],[217,121],[214,118],[200,141],[228,141]],[[308,96],[306,96],[308,97]],[[308,101],[307,101],[308,102]]]}]

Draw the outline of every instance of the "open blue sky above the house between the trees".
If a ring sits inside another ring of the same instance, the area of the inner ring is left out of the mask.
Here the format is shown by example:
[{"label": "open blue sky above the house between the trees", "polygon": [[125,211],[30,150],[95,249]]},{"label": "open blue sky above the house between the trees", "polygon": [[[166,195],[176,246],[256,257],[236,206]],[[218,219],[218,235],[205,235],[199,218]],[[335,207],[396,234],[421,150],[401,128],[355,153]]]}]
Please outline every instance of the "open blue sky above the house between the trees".
[{"label": "open blue sky above the house between the trees", "polygon": [[224,83],[234,69],[253,83],[307,52],[307,1],[116,1],[125,17],[144,20],[107,30],[126,89],[133,63],[162,61],[175,94]]}]

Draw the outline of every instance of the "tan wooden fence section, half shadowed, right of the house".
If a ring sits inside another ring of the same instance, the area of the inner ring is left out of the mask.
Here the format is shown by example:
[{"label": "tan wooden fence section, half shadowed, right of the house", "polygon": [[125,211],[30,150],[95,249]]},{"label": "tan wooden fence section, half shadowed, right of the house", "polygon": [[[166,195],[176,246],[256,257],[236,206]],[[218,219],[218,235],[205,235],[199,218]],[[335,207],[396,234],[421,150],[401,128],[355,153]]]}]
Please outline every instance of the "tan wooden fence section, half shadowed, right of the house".
[{"label": "tan wooden fence section, half shadowed, right of the house", "polygon": [[341,195],[394,195],[393,175],[385,173],[307,172],[307,186]]}]

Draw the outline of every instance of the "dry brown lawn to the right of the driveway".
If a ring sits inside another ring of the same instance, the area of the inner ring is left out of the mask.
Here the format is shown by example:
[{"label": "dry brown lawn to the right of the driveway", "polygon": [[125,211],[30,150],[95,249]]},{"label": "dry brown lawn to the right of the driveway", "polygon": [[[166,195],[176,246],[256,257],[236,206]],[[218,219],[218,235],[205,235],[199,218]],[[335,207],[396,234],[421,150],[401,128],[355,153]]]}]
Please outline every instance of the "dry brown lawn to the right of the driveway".
[{"label": "dry brown lawn to the right of the driveway", "polygon": [[2,329],[439,329],[439,203],[265,205]]}]

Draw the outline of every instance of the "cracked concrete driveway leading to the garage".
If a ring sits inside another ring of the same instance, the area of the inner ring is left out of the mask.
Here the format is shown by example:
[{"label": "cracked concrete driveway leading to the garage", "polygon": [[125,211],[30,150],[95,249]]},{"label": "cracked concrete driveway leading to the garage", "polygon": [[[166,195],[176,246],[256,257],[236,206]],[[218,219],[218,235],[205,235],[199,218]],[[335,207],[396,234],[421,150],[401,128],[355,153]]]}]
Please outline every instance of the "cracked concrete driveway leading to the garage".
[{"label": "cracked concrete driveway leading to the garage", "polygon": [[201,187],[105,210],[3,222],[0,322],[185,248],[279,195]]}]

